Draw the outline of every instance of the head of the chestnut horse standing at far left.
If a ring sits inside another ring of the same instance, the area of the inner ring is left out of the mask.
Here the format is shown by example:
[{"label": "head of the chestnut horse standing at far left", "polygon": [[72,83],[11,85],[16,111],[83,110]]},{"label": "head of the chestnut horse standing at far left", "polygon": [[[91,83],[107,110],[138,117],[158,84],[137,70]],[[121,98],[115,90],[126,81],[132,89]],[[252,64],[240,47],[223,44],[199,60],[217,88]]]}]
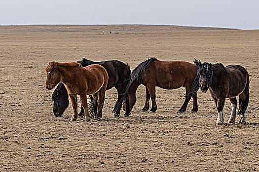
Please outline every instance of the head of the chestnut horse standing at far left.
[{"label": "head of the chestnut horse standing at far left", "polygon": [[48,66],[45,68],[47,73],[47,79],[45,82],[45,87],[48,90],[53,89],[62,79],[62,74],[58,71],[58,66],[55,61],[49,62]]}]

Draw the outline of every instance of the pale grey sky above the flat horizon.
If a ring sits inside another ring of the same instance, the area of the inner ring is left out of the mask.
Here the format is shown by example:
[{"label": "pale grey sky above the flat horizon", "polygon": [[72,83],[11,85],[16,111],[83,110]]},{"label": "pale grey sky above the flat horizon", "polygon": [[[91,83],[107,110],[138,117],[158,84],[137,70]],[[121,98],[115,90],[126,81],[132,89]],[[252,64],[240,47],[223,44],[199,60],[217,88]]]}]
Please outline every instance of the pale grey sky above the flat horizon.
[{"label": "pale grey sky above the flat horizon", "polygon": [[259,0],[0,0],[0,25],[33,24],[259,29]]}]

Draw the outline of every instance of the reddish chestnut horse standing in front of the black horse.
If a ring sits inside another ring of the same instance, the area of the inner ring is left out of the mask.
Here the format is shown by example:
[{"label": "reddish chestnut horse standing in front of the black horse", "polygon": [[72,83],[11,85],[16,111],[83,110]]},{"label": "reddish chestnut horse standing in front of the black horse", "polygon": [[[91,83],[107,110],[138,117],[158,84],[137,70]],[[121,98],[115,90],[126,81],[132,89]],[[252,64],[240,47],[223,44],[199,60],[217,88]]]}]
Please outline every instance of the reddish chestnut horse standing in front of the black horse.
[{"label": "reddish chestnut horse standing in front of the black horse", "polygon": [[[75,121],[78,117],[77,94],[81,98],[85,120],[90,120],[90,113],[95,119],[101,120],[105,90],[109,79],[104,67],[99,64],[82,67],[80,63],[76,62],[59,63],[52,61],[45,71],[47,72],[45,83],[47,89],[53,89],[60,82],[66,86],[73,107],[71,121]],[[93,95],[94,100],[89,108],[89,113],[86,95],[90,94]]]}]

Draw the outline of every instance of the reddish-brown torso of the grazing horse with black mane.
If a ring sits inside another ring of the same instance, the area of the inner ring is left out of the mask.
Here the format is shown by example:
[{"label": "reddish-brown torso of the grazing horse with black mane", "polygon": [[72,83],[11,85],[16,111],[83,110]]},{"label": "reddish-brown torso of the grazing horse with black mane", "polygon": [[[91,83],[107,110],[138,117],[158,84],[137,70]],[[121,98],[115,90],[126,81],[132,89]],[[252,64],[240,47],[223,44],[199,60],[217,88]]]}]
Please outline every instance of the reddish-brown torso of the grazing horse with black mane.
[{"label": "reddish-brown torso of the grazing horse with black mane", "polygon": [[191,86],[196,75],[196,66],[186,61],[153,61],[142,78],[142,84],[152,83],[164,89]]}]

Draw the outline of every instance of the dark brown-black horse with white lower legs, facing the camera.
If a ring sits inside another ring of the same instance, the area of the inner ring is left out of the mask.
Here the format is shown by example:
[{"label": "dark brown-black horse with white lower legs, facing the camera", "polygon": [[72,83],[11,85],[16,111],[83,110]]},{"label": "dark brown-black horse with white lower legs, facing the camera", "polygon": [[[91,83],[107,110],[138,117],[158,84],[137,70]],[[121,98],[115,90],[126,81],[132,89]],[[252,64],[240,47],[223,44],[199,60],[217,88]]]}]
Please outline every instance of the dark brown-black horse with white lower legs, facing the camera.
[{"label": "dark brown-black horse with white lower legs, facing the camera", "polygon": [[249,74],[247,70],[240,65],[228,65],[224,67],[222,63],[211,64],[201,63],[194,58],[196,64],[197,74],[189,95],[195,94],[199,87],[202,92],[208,89],[214,99],[217,110],[218,119],[216,124],[223,124],[223,106],[225,98],[231,102],[232,111],[228,119],[228,123],[234,123],[236,118],[237,100],[239,96],[239,112],[241,119],[239,123],[246,123],[246,109],[249,102]]}]

